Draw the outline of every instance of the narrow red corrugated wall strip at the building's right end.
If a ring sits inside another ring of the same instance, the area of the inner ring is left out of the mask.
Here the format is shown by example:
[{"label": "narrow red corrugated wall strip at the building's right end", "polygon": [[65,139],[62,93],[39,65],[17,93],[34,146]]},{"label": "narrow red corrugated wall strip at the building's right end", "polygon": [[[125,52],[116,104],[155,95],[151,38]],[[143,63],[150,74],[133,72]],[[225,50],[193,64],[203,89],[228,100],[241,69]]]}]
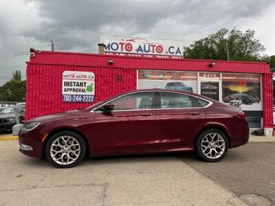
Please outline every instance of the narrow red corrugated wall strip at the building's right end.
[{"label": "narrow red corrugated wall strip at the building's right end", "polygon": [[263,127],[273,128],[272,73],[263,74]]}]

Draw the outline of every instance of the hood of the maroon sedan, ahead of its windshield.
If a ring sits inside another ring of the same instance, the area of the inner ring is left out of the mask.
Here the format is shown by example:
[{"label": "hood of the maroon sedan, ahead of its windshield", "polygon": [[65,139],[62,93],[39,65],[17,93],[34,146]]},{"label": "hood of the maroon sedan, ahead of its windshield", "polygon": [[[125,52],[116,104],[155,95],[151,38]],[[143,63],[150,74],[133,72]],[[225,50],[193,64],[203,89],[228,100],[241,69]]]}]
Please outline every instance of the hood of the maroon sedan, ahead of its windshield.
[{"label": "hood of the maroon sedan, ahead of its windshield", "polygon": [[52,122],[54,120],[77,120],[77,119],[83,119],[85,116],[87,116],[87,111],[66,111],[63,113],[54,113],[51,115],[44,115],[41,117],[35,117],[34,119],[30,119],[28,122]]}]

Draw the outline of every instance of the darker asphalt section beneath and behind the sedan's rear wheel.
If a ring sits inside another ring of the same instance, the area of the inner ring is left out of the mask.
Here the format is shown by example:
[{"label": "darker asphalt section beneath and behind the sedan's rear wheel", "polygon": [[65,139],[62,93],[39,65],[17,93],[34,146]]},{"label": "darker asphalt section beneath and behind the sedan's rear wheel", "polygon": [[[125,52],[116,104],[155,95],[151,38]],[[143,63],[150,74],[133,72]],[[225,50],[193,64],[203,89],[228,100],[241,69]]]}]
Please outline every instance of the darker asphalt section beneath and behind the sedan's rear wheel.
[{"label": "darker asphalt section beneath and behind the sedan's rear wheel", "polygon": [[275,205],[275,142],[250,142],[229,150],[219,163],[203,163],[192,155],[178,157],[238,196],[258,194]]}]

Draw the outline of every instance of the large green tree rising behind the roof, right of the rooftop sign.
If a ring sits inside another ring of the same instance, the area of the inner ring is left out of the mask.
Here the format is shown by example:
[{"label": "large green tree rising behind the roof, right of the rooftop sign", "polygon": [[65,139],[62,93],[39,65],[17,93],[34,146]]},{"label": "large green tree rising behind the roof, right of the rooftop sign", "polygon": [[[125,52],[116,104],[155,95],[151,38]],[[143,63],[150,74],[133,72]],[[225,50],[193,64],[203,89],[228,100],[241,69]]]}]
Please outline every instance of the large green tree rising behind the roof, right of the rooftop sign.
[{"label": "large green tree rising behind the roof, right of the rooftop sign", "polygon": [[185,47],[184,58],[226,60],[228,50],[230,60],[259,60],[265,47],[254,34],[254,30],[241,32],[236,28],[231,31],[223,28]]}]

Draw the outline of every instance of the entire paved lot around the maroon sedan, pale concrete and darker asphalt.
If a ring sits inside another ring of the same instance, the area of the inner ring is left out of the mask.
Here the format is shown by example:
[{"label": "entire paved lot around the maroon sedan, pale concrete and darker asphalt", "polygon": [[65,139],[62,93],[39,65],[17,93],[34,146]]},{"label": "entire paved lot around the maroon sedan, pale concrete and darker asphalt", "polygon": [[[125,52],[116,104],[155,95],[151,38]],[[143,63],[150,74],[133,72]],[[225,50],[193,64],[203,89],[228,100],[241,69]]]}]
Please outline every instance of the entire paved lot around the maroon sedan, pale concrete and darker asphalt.
[{"label": "entire paved lot around the maroon sedan, pale concrete and darker asphalt", "polygon": [[0,205],[245,205],[242,194],[275,203],[275,142],[234,148],[219,163],[192,154],[86,159],[56,169],[0,141]]}]

